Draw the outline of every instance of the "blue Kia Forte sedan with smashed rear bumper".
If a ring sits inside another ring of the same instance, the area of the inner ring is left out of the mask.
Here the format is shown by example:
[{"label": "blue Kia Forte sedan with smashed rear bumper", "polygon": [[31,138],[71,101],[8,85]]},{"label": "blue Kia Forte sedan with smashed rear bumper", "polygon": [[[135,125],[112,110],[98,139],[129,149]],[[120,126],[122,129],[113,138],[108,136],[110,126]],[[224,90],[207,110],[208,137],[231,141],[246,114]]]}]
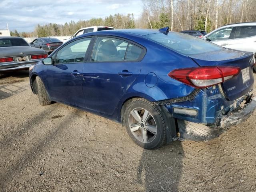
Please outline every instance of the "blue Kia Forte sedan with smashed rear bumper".
[{"label": "blue Kia Forte sedan with smashed rear bumper", "polygon": [[39,103],[122,123],[147,149],[210,140],[252,115],[254,60],[186,34],[107,30],[73,38],[30,68]]}]

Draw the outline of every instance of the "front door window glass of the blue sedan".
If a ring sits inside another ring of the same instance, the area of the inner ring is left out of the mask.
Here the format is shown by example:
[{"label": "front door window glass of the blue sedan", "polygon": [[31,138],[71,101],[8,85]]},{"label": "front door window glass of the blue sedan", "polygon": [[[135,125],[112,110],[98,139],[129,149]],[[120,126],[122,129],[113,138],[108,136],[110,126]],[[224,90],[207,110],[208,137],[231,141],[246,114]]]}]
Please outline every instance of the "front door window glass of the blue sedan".
[{"label": "front door window glass of the blue sedan", "polygon": [[58,51],[55,63],[83,62],[91,38],[79,39]]}]

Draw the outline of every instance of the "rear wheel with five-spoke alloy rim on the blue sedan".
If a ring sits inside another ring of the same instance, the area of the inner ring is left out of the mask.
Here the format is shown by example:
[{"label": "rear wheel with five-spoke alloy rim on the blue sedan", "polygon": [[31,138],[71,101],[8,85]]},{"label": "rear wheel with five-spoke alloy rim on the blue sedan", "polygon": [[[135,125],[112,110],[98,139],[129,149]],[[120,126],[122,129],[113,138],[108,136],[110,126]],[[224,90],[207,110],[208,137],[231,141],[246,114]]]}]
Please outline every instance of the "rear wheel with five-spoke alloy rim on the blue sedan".
[{"label": "rear wheel with five-spoke alloy rim on the blue sedan", "polygon": [[139,146],[152,149],[165,143],[166,125],[155,104],[143,98],[133,100],[124,118],[128,134]]}]

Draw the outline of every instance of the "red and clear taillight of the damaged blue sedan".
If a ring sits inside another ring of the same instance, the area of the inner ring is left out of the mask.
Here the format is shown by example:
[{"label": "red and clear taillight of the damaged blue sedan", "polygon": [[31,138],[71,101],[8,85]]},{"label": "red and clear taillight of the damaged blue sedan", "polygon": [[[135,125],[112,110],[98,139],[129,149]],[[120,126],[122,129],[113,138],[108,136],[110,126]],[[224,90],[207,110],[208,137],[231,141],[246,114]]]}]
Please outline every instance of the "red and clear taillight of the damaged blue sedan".
[{"label": "red and clear taillight of the damaged blue sedan", "polygon": [[238,67],[196,67],[171,71],[168,76],[195,88],[206,88],[239,74]]}]

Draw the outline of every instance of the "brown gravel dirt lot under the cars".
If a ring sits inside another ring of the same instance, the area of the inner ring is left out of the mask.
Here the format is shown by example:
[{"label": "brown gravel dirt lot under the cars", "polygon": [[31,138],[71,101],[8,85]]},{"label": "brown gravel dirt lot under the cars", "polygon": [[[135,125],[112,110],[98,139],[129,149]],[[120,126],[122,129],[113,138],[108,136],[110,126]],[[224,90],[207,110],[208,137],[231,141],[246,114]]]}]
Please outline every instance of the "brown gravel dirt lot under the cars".
[{"label": "brown gravel dirt lot under the cars", "polygon": [[0,75],[0,191],[255,191],[255,124],[143,150],[118,123],[40,106],[28,72]]}]

